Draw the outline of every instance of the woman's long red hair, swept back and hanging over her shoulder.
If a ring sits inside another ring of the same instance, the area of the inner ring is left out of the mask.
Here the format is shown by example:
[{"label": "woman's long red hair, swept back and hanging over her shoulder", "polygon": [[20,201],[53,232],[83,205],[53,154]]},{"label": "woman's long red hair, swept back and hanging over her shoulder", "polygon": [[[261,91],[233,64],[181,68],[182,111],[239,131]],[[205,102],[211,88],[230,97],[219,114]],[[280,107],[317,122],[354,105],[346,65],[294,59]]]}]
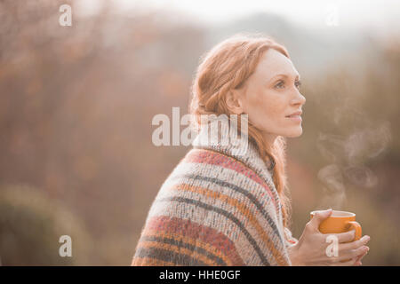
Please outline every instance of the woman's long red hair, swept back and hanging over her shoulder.
[{"label": "woman's long red hair, swept back and hanging over her shoulder", "polygon": [[[290,58],[283,45],[260,34],[231,36],[204,54],[196,70],[189,104],[189,112],[195,116],[197,125],[201,125],[201,114],[227,114],[230,117],[229,114],[232,113],[226,104],[228,91],[242,88],[247,78],[254,73],[262,55],[271,48]],[[241,115],[238,115],[237,121],[241,121]],[[240,129],[240,125],[238,127]],[[274,145],[268,145],[261,131],[250,121],[248,134],[249,140],[257,146],[262,159],[267,164],[272,162],[273,181],[282,204],[284,226],[287,226],[290,200],[286,195],[286,139],[278,136]]]}]

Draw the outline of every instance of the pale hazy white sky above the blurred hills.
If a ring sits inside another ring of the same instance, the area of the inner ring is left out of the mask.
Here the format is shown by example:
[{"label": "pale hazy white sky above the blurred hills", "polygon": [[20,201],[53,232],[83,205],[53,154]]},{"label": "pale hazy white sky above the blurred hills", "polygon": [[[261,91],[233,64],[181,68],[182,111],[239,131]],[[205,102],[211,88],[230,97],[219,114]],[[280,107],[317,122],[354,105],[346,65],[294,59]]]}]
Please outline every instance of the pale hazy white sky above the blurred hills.
[{"label": "pale hazy white sky above the blurred hills", "polygon": [[[360,26],[368,28],[400,27],[399,0],[108,0],[120,11],[173,9],[193,20],[213,24],[245,16],[252,12],[274,12],[295,22],[315,28]],[[95,9],[97,0],[81,0],[80,6]]]}]

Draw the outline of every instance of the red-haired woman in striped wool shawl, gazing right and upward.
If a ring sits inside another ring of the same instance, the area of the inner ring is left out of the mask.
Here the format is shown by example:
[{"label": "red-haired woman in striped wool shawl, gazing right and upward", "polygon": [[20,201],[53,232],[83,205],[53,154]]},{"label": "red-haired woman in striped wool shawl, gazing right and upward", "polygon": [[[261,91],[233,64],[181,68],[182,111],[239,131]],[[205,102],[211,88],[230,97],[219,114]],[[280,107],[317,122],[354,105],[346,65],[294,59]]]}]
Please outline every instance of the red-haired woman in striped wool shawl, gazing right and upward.
[{"label": "red-haired woman in striped wool shawl, gazing right and upward", "polygon": [[[354,231],[338,233],[339,256],[326,256],[318,225],[331,210],[299,240],[287,228],[285,138],[301,135],[306,99],[284,46],[232,36],[205,54],[192,92],[198,136],[157,194],[132,265],[360,265],[369,237],[352,241]],[[221,143],[228,132],[218,131],[211,143],[215,119],[205,114],[228,121],[241,139]]]}]

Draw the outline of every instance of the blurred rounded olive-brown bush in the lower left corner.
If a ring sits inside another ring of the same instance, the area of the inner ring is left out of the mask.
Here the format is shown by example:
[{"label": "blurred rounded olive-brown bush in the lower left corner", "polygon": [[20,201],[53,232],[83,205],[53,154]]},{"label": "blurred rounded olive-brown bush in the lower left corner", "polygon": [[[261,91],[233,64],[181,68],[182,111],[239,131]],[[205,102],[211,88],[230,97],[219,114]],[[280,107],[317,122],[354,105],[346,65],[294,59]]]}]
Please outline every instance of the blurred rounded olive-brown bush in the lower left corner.
[{"label": "blurred rounded olive-brown bush in the lower left corner", "polygon": [[[92,241],[59,201],[28,185],[0,189],[0,256],[3,265],[90,264]],[[71,237],[72,256],[59,254],[60,236]]]}]

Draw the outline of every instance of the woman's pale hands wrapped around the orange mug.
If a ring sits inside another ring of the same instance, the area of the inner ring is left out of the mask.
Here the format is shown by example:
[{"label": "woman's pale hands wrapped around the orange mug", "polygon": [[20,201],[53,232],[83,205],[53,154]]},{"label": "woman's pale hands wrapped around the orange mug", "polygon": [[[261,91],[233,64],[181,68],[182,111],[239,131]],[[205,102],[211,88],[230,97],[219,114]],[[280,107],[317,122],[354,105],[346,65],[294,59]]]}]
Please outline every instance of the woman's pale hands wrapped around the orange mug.
[{"label": "woman's pale hands wrapped around the orange mug", "polygon": [[[299,242],[289,248],[292,265],[361,265],[361,258],[369,250],[365,244],[370,241],[370,237],[364,236],[358,241],[352,241],[354,230],[346,233],[320,233],[319,225],[331,214],[332,209],[316,212],[316,215],[308,222]],[[331,244],[326,242],[328,235],[335,235],[338,238],[338,256],[327,256],[326,254],[326,248]],[[341,262],[344,260],[346,261]]]}]

